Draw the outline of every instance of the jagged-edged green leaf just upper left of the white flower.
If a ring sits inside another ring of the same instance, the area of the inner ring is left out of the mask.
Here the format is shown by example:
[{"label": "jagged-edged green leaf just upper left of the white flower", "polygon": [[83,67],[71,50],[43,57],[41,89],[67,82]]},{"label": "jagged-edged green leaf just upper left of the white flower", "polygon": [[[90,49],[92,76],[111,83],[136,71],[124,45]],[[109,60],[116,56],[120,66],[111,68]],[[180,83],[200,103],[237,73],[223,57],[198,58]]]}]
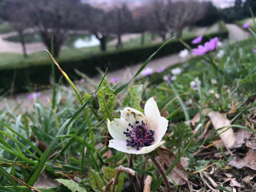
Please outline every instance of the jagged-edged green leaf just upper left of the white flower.
[{"label": "jagged-edged green leaf just upper left of the white flower", "polygon": [[98,92],[100,109],[99,112],[104,116],[104,119],[112,119],[112,114],[116,96],[112,93],[108,93],[108,88],[103,88]]}]

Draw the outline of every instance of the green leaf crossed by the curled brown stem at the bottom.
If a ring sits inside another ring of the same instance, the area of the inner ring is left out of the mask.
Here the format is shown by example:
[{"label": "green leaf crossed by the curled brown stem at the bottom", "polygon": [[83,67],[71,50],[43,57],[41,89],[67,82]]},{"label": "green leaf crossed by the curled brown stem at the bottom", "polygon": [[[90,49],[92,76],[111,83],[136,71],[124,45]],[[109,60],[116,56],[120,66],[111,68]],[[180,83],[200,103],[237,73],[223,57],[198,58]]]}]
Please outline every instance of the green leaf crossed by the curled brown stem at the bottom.
[{"label": "green leaf crossed by the curled brown stem at the bottom", "polygon": [[[116,176],[116,169],[111,169],[108,167],[102,167],[102,171],[103,171],[103,179],[106,182],[109,182],[111,179],[113,179]],[[124,175],[120,174],[118,177],[118,184],[115,185],[111,185],[109,191],[110,192],[120,192],[123,189],[123,185],[124,185]]]}]

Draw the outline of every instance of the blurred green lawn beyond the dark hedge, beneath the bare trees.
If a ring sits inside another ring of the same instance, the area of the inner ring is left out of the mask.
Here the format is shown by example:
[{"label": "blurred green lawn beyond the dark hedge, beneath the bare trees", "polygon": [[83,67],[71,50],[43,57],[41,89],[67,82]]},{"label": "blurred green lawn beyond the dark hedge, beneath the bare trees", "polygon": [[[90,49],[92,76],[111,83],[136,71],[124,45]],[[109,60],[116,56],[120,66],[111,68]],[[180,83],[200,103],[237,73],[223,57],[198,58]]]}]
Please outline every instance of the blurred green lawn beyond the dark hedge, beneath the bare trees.
[{"label": "blurred green lawn beyond the dark hedge, beneath the bare trees", "polygon": [[[191,38],[196,36],[198,28],[193,28],[189,30],[188,28],[184,29],[182,38]],[[212,25],[206,31],[206,35],[212,32],[219,31],[219,23]],[[35,38],[36,36],[36,38]],[[27,42],[39,42],[40,38],[36,34],[27,35],[25,36]],[[158,35],[155,35],[155,38],[159,38]],[[18,41],[17,36],[9,37],[9,40]],[[92,46],[92,47],[84,47],[84,48],[73,48],[70,46],[72,42],[72,38],[68,40],[61,49],[59,60],[72,60],[73,58],[77,57],[84,57],[84,56],[91,56],[100,53],[99,46]],[[151,34],[145,33],[145,43],[144,46],[151,45]],[[124,49],[141,47],[141,37],[138,36],[136,38],[131,39],[130,41],[123,43]],[[107,45],[107,52],[116,51],[116,47],[114,45]],[[45,63],[49,61],[49,57],[45,51],[32,53],[28,55],[28,58],[23,58],[21,54],[12,54],[12,53],[0,53],[0,69],[5,68],[14,68],[14,67],[22,67],[27,66],[28,63],[33,63],[34,61],[40,61],[40,63]]]}]

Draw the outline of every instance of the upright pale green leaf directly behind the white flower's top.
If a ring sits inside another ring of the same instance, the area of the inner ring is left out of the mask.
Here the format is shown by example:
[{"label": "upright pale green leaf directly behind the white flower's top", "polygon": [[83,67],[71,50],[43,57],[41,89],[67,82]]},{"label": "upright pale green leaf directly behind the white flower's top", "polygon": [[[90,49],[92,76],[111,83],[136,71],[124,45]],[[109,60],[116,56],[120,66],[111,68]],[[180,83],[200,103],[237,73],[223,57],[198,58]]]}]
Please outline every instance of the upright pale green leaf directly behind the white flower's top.
[{"label": "upright pale green leaf directly behind the white flower's top", "polygon": [[129,88],[129,93],[131,95],[132,108],[137,109],[138,111],[144,113],[144,109],[140,107],[141,102],[141,93],[142,93],[142,84],[131,86]]}]

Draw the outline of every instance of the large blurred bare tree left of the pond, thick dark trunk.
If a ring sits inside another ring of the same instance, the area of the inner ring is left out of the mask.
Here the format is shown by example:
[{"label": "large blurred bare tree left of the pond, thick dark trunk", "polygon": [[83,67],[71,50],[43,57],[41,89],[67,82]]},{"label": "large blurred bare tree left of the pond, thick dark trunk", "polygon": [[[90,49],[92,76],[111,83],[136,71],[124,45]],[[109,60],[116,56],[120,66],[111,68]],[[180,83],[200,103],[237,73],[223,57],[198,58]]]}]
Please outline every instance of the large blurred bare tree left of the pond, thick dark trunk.
[{"label": "large blurred bare tree left of the pond, thick dark trunk", "polygon": [[[29,18],[43,43],[53,50],[56,57],[68,37],[68,31],[77,27],[80,12],[79,0],[26,0]],[[25,3],[24,2],[24,3]]]}]

